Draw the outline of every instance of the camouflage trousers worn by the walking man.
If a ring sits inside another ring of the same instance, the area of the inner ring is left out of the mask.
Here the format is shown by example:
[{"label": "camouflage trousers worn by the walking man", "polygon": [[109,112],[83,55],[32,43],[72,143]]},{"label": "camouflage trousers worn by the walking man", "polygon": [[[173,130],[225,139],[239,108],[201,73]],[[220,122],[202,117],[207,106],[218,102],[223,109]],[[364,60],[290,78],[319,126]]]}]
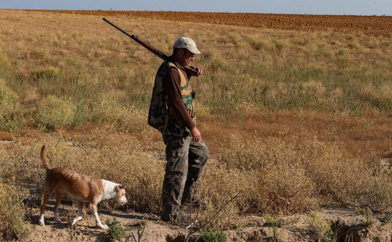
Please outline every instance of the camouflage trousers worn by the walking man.
[{"label": "camouflage trousers worn by the walking man", "polygon": [[189,202],[191,192],[198,187],[208,158],[208,148],[202,140],[192,137],[162,135],[166,145],[166,169],[162,186],[161,219],[178,216],[181,200]]}]

